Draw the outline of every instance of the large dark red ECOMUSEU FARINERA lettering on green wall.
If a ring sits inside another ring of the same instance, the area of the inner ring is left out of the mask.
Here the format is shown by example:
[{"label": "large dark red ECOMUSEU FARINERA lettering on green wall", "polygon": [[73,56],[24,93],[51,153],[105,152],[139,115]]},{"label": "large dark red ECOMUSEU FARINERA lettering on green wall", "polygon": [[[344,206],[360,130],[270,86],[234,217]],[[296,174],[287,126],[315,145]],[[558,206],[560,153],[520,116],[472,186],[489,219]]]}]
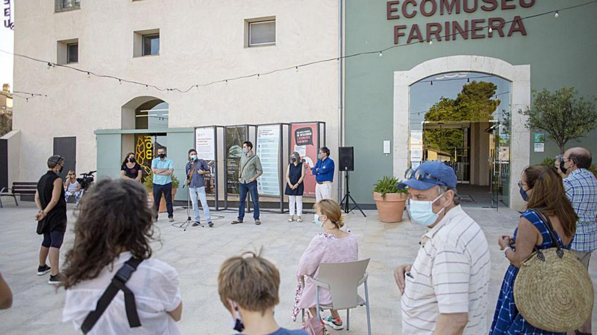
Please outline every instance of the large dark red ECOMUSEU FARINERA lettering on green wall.
[{"label": "large dark red ECOMUSEU FARINERA lettering on green wall", "polygon": [[[479,39],[492,38],[498,35],[500,38],[510,37],[514,33],[527,35],[527,29],[522,23],[522,18],[516,15],[507,20],[503,17],[488,17],[490,13],[497,9],[513,10],[516,7],[530,8],[535,4],[535,0],[504,1],[502,0],[484,0],[481,1],[461,1],[461,0],[402,0],[386,2],[387,20],[408,21],[408,19],[422,15],[430,17],[435,14],[442,15],[441,22],[429,22],[426,24],[397,24],[393,27],[394,44],[403,42],[406,37],[406,43],[411,41],[423,42],[432,41],[454,41],[456,39]],[[481,13],[478,13],[481,12]],[[450,16],[456,16],[475,13],[479,18],[471,20],[450,20]],[[488,17],[488,18],[485,18]],[[401,22],[399,21],[399,22]],[[406,22],[405,22],[406,23]],[[491,31],[487,29],[491,27]],[[403,42],[404,43],[404,42]]]}]

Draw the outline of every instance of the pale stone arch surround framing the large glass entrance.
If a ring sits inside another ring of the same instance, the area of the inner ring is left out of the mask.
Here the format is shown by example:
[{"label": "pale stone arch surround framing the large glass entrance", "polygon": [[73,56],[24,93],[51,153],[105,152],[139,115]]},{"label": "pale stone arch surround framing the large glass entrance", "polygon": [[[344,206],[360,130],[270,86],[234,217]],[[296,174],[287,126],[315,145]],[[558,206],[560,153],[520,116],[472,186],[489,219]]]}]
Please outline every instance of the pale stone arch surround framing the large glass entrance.
[{"label": "pale stone arch surround framing the large glass entrance", "polygon": [[[509,180],[509,194],[516,194],[518,175],[528,165],[530,157],[529,131],[524,127],[524,117],[518,114],[519,109],[530,105],[530,66],[514,66],[498,58],[475,55],[441,57],[418,64],[411,70],[394,73],[393,172],[396,176],[401,176],[411,165],[409,146],[411,130],[413,130],[410,122],[412,85],[430,76],[456,72],[493,75],[511,83],[509,132],[512,141],[509,148],[509,167],[512,178]],[[509,206],[521,209],[524,204],[519,197],[510,197]]]}]

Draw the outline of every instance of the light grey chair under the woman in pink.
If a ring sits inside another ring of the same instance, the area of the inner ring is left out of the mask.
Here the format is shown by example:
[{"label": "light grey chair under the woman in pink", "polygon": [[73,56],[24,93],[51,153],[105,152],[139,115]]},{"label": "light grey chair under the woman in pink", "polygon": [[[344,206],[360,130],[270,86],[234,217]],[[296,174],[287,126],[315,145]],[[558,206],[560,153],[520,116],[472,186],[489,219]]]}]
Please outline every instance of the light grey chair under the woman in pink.
[{"label": "light grey chair under the woman in pink", "polygon": [[[307,280],[315,284],[315,296],[317,297],[317,319],[321,320],[319,311],[322,309],[335,309],[336,311],[346,309],[346,330],[350,328],[350,309],[357,306],[367,308],[367,331],[371,335],[371,316],[369,310],[369,291],[367,289],[367,266],[369,258],[357,260],[356,262],[343,263],[321,263],[319,275],[315,280],[307,276]],[[365,284],[365,299],[357,293],[358,287]],[[304,287],[304,286],[303,286]],[[330,291],[332,298],[331,305],[319,303],[319,287]],[[304,309],[302,311],[304,321]]]}]

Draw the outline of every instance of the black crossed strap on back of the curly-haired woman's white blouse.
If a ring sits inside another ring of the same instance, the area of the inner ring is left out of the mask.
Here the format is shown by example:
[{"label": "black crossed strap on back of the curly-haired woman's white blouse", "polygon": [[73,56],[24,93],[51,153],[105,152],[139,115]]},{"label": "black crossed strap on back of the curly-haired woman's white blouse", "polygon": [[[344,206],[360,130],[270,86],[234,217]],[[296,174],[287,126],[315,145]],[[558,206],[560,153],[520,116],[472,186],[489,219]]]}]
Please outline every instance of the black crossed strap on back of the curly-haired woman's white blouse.
[{"label": "black crossed strap on back of the curly-haired woman's white blouse", "polygon": [[133,272],[137,270],[137,266],[141,263],[142,259],[137,259],[131,257],[127,262],[122,265],[122,267],[116,272],[116,275],[112,278],[112,282],[101,294],[99,300],[97,300],[96,310],[91,311],[83,324],[81,325],[81,330],[84,334],[87,334],[94,325],[96,325],[97,320],[100,319],[101,314],[106,311],[106,308],[112,302],[112,299],[116,296],[119,290],[124,292],[124,306],[127,311],[127,319],[128,325],[131,328],[140,327],[141,322],[139,321],[139,315],[137,315],[137,306],[135,304],[135,296],[131,290],[125,285],[127,281],[131,278]]}]

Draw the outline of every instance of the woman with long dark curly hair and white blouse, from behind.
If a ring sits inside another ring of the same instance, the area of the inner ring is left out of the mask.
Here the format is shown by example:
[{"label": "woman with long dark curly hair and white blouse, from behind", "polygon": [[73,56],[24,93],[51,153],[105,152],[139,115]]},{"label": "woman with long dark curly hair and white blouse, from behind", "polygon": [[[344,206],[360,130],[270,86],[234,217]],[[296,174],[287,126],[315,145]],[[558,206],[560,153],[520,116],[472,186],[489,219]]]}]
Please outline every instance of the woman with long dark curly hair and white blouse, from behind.
[{"label": "woman with long dark curly hair and white blouse, from behind", "polygon": [[63,269],[62,321],[82,329],[112,278],[126,269],[125,262],[136,260],[136,270],[124,285],[134,294],[132,310],[140,326],[131,328],[130,300],[120,289],[87,334],[181,334],[176,324],[183,308],[179,275],[151,258],[152,209],[143,185],[131,179],[100,181],[85,194],[80,208],[75,243]]}]

